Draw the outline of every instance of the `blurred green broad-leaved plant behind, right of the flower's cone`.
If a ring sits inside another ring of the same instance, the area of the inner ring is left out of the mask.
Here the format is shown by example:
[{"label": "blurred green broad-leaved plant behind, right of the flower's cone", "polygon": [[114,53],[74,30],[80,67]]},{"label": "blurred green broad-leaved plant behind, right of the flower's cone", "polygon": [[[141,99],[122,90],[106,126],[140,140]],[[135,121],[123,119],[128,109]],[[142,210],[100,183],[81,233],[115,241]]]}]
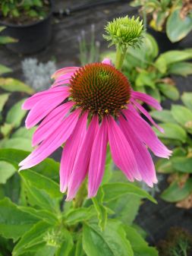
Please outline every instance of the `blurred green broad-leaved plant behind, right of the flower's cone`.
[{"label": "blurred green broad-leaved plant behind, right of the flower's cone", "polygon": [[[115,60],[115,52],[104,52]],[[134,90],[148,93],[161,102],[168,98],[178,100],[179,92],[172,74],[187,77],[192,74],[192,64],[186,62],[192,58],[192,49],[172,50],[159,55],[156,40],[150,34],[143,36],[140,49],[127,49],[122,71]]]}]

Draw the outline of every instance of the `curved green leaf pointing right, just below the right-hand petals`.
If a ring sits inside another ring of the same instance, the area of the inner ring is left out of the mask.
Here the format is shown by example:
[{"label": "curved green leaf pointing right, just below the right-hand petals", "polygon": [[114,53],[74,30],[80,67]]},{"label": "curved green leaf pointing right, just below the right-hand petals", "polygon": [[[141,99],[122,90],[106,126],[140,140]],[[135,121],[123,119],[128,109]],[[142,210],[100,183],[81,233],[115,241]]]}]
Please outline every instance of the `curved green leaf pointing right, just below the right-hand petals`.
[{"label": "curved green leaf pointing right, just below the right-hand petals", "polygon": [[102,189],[104,192],[104,202],[113,201],[125,196],[126,194],[134,194],[139,198],[147,198],[153,203],[156,203],[156,200],[150,194],[131,183],[109,183],[102,185]]}]

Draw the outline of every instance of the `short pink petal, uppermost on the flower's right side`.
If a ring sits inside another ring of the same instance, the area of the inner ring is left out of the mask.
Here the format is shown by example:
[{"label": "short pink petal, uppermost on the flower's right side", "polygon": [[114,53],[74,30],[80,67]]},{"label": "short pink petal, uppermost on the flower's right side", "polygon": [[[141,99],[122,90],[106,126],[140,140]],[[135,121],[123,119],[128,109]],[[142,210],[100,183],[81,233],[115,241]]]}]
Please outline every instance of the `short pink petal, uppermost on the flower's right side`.
[{"label": "short pink petal, uppermost on the flower's right side", "polygon": [[133,90],[131,92],[131,96],[134,98],[134,100],[141,100],[144,103],[153,106],[153,108],[157,110],[162,110],[162,106],[159,104],[159,102],[152,96],[147,95],[146,93],[140,93]]}]

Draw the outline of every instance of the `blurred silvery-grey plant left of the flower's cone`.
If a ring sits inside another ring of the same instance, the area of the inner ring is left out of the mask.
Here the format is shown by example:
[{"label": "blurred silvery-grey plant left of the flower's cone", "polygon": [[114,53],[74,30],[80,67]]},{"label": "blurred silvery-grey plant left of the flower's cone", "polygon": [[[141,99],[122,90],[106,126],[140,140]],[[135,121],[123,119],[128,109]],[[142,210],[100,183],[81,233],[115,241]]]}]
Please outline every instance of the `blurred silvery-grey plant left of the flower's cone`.
[{"label": "blurred silvery-grey plant left of the flower's cone", "polygon": [[21,62],[24,79],[34,90],[47,90],[50,87],[51,76],[56,70],[55,62],[39,62],[36,58],[25,58]]}]

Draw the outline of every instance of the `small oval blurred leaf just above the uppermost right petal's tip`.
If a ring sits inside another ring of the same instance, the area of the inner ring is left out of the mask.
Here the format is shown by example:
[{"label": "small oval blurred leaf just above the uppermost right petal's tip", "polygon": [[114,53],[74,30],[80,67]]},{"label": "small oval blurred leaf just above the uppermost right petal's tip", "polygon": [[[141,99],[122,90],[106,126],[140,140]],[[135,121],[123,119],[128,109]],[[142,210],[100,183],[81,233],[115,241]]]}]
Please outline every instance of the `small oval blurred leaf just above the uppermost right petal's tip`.
[{"label": "small oval blurred leaf just above the uppermost right petal's tip", "polygon": [[179,91],[178,88],[170,85],[170,84],[158,84],[159,90],[162,94],[164,94],[168,99],[171,100],[178,100],[179,98]]}]

